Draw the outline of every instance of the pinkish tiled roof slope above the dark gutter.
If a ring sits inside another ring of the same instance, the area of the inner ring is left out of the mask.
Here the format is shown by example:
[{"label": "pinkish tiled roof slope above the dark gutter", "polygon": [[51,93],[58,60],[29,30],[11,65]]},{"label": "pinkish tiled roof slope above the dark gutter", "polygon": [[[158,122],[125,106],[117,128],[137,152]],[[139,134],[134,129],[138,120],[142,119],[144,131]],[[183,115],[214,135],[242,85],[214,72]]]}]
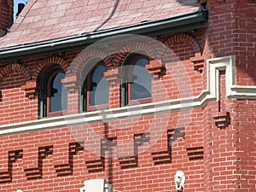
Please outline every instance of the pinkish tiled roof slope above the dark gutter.
[{"label": "pinkish tiled roof slope above the dark gutter", "polygon": [[0,48],[195,12],[196,0],[30,0]]}]

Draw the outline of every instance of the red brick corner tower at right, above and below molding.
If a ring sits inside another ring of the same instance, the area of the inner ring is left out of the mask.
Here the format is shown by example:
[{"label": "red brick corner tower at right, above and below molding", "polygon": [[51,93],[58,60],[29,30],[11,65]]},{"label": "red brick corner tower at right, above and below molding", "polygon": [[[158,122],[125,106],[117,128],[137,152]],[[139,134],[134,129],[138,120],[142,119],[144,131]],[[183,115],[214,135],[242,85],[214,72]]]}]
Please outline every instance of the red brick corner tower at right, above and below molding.
[{"label": "red brick corner tower at right, above and below molding", "polygon": [[[255,20],[251,15],[255,15],[255,2],[208,1],[208,9],[207,44],[211,49],[205,49],[207,56],[236,55],[236,84],[254,85]],[[254,101],[222,98],[206,108],[206,191],[253,191],[255,153],[251,148],[255,146]],[[215,115],[214,119],[214,113],[218,113],[218,118]],[[216,119],[224,120],[229,115],[230,125],[218,129]]]}]

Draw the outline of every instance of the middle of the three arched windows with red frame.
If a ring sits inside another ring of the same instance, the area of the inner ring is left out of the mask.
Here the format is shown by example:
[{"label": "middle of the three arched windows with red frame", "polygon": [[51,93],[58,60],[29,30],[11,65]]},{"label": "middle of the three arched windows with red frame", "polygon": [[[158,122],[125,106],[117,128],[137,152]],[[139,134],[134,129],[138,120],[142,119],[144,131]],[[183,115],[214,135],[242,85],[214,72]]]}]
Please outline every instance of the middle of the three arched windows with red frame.
[{"label": "middle of the three arched windows with red frame", "polygon": [[99,61],[87,74],[82,90],[83,111],[108,108],[109,84],[104,72],[107,72],[107,67]]}]

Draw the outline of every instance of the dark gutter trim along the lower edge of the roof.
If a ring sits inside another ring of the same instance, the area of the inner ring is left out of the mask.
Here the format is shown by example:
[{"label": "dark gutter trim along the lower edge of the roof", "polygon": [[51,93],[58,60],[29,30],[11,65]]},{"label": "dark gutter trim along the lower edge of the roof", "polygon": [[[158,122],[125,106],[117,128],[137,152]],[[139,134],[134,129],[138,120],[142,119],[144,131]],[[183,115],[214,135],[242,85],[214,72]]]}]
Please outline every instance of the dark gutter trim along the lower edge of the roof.
[{"label": "dark gutter trim along the lower edge of the roof", "polygon": [[207,26],[207,10],[179,15],[163,20],[145,21],[130,26],[120,26],[108,30],[88,32],[67,38],[57,38],[33,44],[17,45],[0,49],[0,61],[20,60],[34,55],[58,53],[84,48],[99,39],[120,34],[140,34],[148,37],[171,32],[184,32]]}]

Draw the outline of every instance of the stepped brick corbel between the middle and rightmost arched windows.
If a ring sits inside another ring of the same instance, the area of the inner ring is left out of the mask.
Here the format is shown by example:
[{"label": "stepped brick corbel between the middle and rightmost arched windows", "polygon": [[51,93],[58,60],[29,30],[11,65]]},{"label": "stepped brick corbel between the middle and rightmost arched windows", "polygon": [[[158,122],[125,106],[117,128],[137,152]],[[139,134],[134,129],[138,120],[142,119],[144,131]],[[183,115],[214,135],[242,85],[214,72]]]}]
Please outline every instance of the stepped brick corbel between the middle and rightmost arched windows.
[{"label": "stepped brick corbel between the middle and rightmost arched windows", "polygon": [[123,73],[120,67],[108,69],[107,72],[103,73],[103,76],[108,80],[109,84],[112,86],[121,84],[122,75]]}]

